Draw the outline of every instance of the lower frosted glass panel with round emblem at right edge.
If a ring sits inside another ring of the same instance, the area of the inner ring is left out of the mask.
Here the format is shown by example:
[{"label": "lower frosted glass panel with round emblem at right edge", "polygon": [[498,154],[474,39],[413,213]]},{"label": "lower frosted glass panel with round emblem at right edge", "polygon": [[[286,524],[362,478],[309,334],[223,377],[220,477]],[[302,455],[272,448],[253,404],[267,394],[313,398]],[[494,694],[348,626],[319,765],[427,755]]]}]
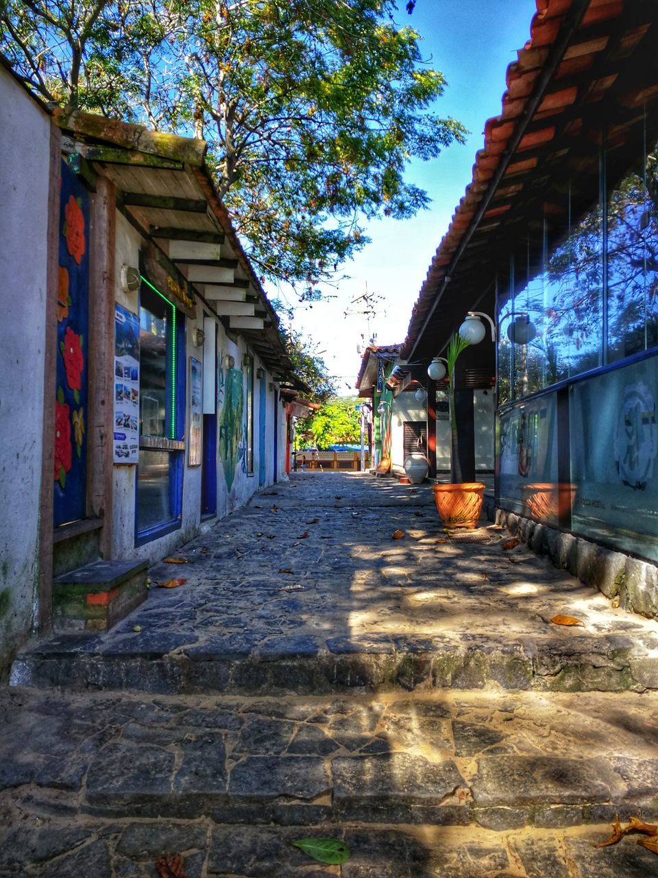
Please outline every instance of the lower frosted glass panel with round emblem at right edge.
[{"label": "lower frosted glass panel with round emblem at right edge", "polygon": [[658,560],[658,358],[569,389],[572,529]]}]

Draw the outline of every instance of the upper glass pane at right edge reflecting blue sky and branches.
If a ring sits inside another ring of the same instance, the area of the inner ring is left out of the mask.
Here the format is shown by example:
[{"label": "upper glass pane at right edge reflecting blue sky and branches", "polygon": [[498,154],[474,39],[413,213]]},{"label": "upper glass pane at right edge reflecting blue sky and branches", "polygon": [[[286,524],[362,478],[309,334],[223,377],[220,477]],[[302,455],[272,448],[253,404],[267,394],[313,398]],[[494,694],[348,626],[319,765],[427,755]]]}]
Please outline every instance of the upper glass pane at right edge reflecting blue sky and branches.
[{"label": "upper glass pane at right edge reflecting blue sky and branches", "polygon": [[612,363],[658,344],[658,147],[647,152],[644,136],[608,194],[607,267]]}]

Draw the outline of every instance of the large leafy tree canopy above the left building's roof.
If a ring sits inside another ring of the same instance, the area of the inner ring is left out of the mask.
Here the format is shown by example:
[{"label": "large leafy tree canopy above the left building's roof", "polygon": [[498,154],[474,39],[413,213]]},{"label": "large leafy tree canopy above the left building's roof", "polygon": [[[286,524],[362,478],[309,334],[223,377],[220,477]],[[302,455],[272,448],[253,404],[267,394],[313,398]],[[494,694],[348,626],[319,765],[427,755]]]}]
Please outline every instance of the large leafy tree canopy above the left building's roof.
[{"label": "large leafy tree canopy above the left building's roof", "polygon": [[5,0],[0,49],[47,101],[209,142],[208,162],[263,277],[317,298],[426,192],[411,158],[465,131],[395,0]]}]

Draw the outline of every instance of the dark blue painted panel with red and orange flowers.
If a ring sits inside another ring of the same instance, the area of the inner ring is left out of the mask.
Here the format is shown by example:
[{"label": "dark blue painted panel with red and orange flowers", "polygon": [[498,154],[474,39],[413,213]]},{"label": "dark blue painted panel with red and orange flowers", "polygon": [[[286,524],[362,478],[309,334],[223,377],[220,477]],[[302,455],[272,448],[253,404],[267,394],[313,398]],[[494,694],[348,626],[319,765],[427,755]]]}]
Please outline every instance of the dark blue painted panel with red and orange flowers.
[{"label": "dark blue painted panel with red and orange flowers", "polygon": [[87,339],[89,193],[61,163],[57,270],[57,399],[54,423],[54,525],[85,516],[87,490]]}]

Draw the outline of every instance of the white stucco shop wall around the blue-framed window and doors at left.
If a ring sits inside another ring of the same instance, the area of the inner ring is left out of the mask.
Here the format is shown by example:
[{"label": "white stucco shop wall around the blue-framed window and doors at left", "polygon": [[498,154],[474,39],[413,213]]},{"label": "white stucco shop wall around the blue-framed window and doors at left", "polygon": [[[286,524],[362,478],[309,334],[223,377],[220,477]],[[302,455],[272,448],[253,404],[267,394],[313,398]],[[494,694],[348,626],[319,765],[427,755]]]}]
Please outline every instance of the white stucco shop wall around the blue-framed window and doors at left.
[{"label": "white stucco shop wall around the blue-framed window and doors at left", "polygon": [[[138,294],[132,293],[126,295],[120,288],[120,270],[123,264],[137,266],[139,265],[139,247],[142,244],[139,233],[130,225],[125,217],[117,214],[117,250],[116,250],[116,277],[118,278],[116,300],[119,305],[124,306],[132,313],[138,313]],[[197,360],[204,362],[204,349],[195,347],[192,344],[192,333],[195,328],[204,329],[204,317],[212,317],[209,308],[204,303],[197,303],[197,316],[195,320],[185,320],[185,376],[186,376],[186,404],[185,404],[185,434],[189,435],[190,430],[190,356],[194,356]],[[225,370],[225,357],[233,357],[233,368],[243,369],[243,358],[248,352],[247,343],[241,336],[233,335],[229,338],[223,325],[216,321],[217,331],[217,358],[218,369]],[[206,327],[207,328],[207,327]],[[260,454],[260,385],[259,379],[255,378],[255,371],[261,365],[257,356],[254,356],[254,472],[248,474],[246,465],[243,466],[239,460],[236,467],[232,483],[229,485],[225,478],[225,461],[221,456],[221,443],[218,441],[218,447],[215,450],[217,464],[217,515],[204,517],[201,521],[201,496],[202,496],[202,479],[203,467],[189,465],[189,450],[186,447],[184,451],[183,479],[182,479],[182,522],[181,528],[174,530],[169,534],[160,536],[144,545],[135,546],[135,513],[136,513],[136,491],[135,481],[137,478],[137,469],[135,466],[125,464],[114,465],[114,498],[112,509],[113,521],[113,555],[114,558],[146,558],[154,561],[170,554],[182,543],[187,542],[193,536],[196,536],[202,530],[212,527],[218,518],[230,515],[235,509],[244,506],[249,498],[259,489],[259,454]],[[204,376],[205,377],[205,376]],[[246,442],[246,415],[247,415],[247,373],[243,371],[243,392],[244,392],[244,413],[243,413],[243,441]],[[266,371],[266,394],[267,394],[267,412],[266,412],[266,430],[267,440],[265,443],[265,453],[267,455],[266,462],[266,484],[265,487],[272,484],[274,480],[275,463],[274,455],[274,392],[269,388],[273,384],[271,374]],[[221,415],[225,403],[224,394],[218,394],[218,425],[217,436],[221,428]],[[283,432],[282,423],[283,420]],[[279,412],[279,434],[283,436],[279,443],[279,454],[283,460],[283,452],[285,445],[285,412],[280,409]],[[284,469],[283,469],[284,472]],[[285,476],[283,476],[285,478]],[[281,475],[280,475],[281,478]],[[230,481],[230,479],[229,479]]]}]

